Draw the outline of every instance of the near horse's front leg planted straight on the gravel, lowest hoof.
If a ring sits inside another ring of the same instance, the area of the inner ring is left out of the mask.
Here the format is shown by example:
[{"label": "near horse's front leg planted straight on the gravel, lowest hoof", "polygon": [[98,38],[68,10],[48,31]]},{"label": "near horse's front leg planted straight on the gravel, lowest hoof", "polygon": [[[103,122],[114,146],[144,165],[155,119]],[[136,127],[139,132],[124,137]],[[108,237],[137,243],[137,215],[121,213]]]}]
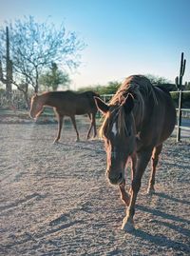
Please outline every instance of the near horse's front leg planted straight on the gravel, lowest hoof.
[{"label": "near horse's front leg planted straight on the gravel, lowest hoof", "polygon": [[131,231],[134,229],[133,216],[135,214],[135,203],[137,199],[137,194],[140,190],[142,183],[142,174],[147,167],[147,164],[151,158],[152,149],[138,152],[137,154],[137,168],[135,172],[134,179],[132,181],[132,190],[129,207],[126,211],[126,216],[123,219],[122,229],[125,231]]}]

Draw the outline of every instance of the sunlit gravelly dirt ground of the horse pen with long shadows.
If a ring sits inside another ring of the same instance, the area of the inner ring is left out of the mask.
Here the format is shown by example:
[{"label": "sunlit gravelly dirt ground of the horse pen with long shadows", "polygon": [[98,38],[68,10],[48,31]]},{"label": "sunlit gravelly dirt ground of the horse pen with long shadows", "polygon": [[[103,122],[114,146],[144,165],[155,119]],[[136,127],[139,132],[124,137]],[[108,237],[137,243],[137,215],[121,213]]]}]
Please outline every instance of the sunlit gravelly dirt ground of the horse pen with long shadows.
[{"label": "sunlit gravelly dirt ground of the horse pen with long shadows", "polygon": [[[101,140],[56,125],[0,124],[0,255],[190,255],[190,143],[164,145],[156,193],[138,195],[136,230],[121,230],[119,188]],[[129,184],[128,173],[128,184]]]}]

